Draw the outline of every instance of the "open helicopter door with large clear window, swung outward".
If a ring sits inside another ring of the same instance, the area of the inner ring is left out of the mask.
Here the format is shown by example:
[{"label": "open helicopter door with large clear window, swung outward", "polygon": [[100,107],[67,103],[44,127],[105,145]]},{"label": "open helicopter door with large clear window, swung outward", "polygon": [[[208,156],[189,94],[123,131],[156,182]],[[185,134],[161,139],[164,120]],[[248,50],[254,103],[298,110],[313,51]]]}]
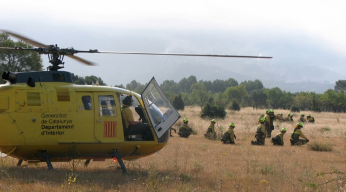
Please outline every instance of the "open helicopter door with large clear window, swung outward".
[{"label": "open helicopter door with large clear window, swung outward", "polygon": [[142,100],[157,138],[160,139],[180,118],[180,115],[166,98],[154,77],[144,89]]}]

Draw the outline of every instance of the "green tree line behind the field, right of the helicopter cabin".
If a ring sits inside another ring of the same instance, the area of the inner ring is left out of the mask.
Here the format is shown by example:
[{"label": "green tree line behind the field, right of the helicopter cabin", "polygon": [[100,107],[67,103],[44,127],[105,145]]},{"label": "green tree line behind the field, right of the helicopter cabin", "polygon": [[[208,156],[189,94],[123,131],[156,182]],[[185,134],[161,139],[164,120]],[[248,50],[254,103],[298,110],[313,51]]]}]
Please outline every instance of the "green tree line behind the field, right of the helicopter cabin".
[{"label": "green tree line behind the field, right of the helicopter cabin", "polygon": [[[208,103],[211,106],[223,106],[232,110],[252,107],[254,110],[260,108],[346,112],[346,80],[338,80],[335,82],[334,90],[328,89],[323,94],[304,91],[291,93],[278,87],[264,88],[258,79],[241,83],[233,78],[197,81],[193,75],[184,77],[179,82],[165,80],[160,87],[173,104],[181,100],[183,106],[197,105],[203,108]],[[136,92],[141,92],[144,88],[145,85],[135,80],[126,85],[126,89]],[[181,106],[175,107],[182,109]]]}]

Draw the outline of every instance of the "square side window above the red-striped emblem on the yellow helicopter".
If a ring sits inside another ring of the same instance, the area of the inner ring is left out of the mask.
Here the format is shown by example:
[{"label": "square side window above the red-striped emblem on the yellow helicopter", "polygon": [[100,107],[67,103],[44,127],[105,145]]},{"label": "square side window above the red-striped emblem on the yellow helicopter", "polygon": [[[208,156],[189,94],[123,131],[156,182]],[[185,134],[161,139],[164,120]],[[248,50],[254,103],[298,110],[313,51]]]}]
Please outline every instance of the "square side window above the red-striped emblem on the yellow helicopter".
[{"label": "square side window above the red-striped emblem on the yellow helicopter", "polygon": [[99,95],[99,106],[100,116],[116,116],[113,95]]}]

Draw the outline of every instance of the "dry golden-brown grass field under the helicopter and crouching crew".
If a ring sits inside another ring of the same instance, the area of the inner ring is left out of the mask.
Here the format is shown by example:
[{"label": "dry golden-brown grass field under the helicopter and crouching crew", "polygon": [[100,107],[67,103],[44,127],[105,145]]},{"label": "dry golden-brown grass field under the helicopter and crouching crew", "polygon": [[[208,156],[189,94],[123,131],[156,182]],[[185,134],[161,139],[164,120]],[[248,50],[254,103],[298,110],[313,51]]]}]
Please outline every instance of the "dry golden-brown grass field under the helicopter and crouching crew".
[{"label": "dry golden-brown grass field under the helicopter and crouching crew", "polygon": [[[154,155],[125,161],[128,174],[123,175],[112,159],[53,163],[48,171],[45,163],[16,167],[17,159],[0,159],[0,191],[345,191],[346,190],[346,114],[309,113],[315,124],[304,124],[303,133],[310,139],[307,145],[290,146],[293,124],[275,121],[272,136],[285,127],[284,146],[250,145],[255,139],[258,117],[265,110],[227,111],[225,119],[217,119],[216,131],[221,134],[231,122],[236,145],[224,145],[220,140],[207,140],[203,134],[211,119],[201,119],[199,107],[179,111],[196,135],[180,138],[177,134]],[[289,111],[275,110],[275,114]],[[294,113],[298,122],[300,113]],[[317,144],[331,152],[310,150]],[[73,168],[73,169],[72,169]]]}]

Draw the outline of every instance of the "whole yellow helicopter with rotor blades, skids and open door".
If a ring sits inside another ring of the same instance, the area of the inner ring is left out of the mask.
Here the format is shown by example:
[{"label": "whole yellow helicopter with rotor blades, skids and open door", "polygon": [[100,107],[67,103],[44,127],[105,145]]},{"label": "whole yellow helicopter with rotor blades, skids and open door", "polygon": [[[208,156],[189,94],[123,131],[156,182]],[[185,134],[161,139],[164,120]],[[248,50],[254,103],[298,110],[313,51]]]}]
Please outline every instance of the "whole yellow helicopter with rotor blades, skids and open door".
[{"label": "whole yellow helicopter with rotor blades, skids and open door", "polygon": [[[127,169],[123,160],[146,157],[162,149],[170,138],[171,126],[180,114],[165,97],[153,77],[141,94],[111,86],[76,85],[72,75],[64,68],[64,56],[86,65],[94,63],[75,56],[77,53],[143,54],[202,57],[262,56],[203,55],[174,53],[104,52],[97,49],[79,51],[44,45],[8,30],[0,30],[35,48],[0,47],[1,51],[33,51],[48,55],[47,71],[5,71],[0,85],[0,155],[18,159],[17,166],[45,162],[54,170],[52,162],[85,159],[104,161],[113,158],[123,173]],[[149,129],[127,134],[128,127],[121,107],[126,98],[134,116]],[[147,135],[151,135],[149,139]]]}]

